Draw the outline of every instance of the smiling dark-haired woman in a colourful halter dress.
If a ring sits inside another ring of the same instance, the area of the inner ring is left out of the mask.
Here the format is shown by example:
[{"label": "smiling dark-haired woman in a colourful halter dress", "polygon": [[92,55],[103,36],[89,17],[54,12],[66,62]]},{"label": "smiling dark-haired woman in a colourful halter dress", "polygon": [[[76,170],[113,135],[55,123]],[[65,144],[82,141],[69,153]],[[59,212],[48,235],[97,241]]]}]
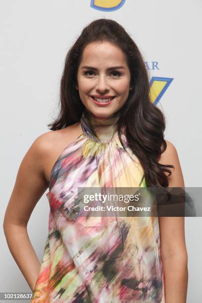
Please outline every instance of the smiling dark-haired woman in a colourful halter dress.
[{"label": "smiling dark-haired woman in a colourful halter dress", "polygon": [[[59,116],[26,153],[4,218],[32,303],[186,302],[183,217],[75,215],[78,187],[184,187],[149,90],[143,57],[121,25],[99,19],[84,28],[66,56]],[[48,187],[40,264],[27,223]]]}]

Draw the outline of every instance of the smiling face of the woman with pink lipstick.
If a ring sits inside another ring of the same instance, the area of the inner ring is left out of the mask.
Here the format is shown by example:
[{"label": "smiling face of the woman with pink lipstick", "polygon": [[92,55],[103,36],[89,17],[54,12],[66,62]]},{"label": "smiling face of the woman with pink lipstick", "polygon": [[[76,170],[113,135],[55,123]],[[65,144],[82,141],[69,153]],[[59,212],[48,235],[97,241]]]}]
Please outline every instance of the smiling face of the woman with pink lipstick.
[{"label": "smiling face of the woman with pink lipstick", "polygon": [[86,46],[78,68],[76,89],[90,112],[107,117],[119,110],[132,89],[130,79],[130,70],[118,47],[109,42],[93,42]]}]

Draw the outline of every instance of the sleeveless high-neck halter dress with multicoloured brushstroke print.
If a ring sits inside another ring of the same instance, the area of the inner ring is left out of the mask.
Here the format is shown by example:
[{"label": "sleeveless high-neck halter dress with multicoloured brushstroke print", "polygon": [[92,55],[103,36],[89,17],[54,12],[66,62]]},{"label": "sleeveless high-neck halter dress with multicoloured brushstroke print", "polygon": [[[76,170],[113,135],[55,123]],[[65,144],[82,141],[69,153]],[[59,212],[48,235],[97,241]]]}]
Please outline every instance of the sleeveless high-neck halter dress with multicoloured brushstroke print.
[{"label": "sleeveless high-neck halter dress with multicoloured brushstroke print", "polygon": [[[118,113],[118,112],[117,112]],[[146,187],[118,114],[82,113],[52,167],[49,233],[31,303],[164,303],[158,217],[71,217],[78,187]]]}]

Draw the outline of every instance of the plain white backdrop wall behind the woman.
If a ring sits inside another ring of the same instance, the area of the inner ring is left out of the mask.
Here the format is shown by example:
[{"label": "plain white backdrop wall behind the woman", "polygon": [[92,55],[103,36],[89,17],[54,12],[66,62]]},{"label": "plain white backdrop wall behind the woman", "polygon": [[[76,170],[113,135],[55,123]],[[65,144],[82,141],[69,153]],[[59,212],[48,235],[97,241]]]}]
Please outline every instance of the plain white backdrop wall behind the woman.
[{"label": "plain white backdrop wall behind the woman", "polygon": [[[104,10],[106,3],[110,10]],[[173,78],[157,104],[167,120],[165,139],[178,151],[185,186],[202,187],[202,0],[1,0],[1,226],[20,162],[57,112],[66,52],[84,26],[103,17],[116,20],[132,35],[151,78]],[[158,68],[152,69],[152,61]],[[40,261],[48,235],[45,194],[28,224]],[[188,303],[202,302],[201,233],[202,218],[186,218]],[[31,292],[2,228],[0,241],[0,292]]]}]

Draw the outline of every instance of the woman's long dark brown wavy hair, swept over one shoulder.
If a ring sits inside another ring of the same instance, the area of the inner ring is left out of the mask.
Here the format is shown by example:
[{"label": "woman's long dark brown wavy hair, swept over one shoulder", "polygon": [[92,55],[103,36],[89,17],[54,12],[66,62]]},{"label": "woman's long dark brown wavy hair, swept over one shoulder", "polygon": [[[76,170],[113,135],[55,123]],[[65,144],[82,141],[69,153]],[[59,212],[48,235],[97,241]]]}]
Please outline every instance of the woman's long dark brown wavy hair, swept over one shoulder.
[{"label": "woman's long dark brown wavy hair, swept over one shoulder", "polygon": [[174,166],[158,163],[167,147],[164,140],[165,117],[151,102],[148,72],[140,50],[116,21],[104,18],[91,22],[67,52],[60,83],[59,114],[48,126],[50,130],[59,130],[80,121],[85,106],[76,89],[77,71],[84,48],[98,41],[118,46],[130,69],[133,90],[120,109],[117,121],[119,139],[122,143],[120,131],[125,125],[128,145],[142,164],[147,186],[168,187],[168,176],[171,175],[168,167]]}]

